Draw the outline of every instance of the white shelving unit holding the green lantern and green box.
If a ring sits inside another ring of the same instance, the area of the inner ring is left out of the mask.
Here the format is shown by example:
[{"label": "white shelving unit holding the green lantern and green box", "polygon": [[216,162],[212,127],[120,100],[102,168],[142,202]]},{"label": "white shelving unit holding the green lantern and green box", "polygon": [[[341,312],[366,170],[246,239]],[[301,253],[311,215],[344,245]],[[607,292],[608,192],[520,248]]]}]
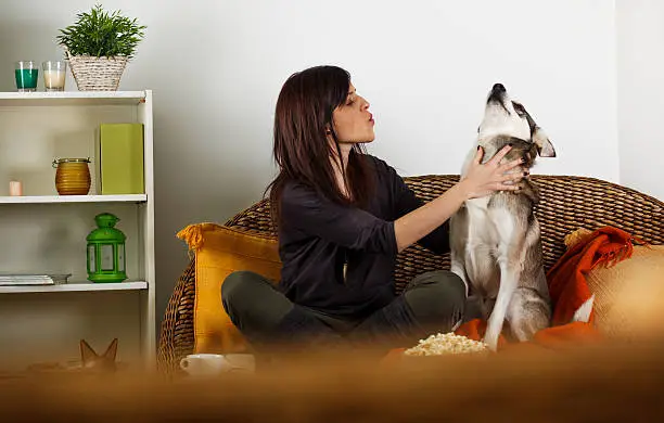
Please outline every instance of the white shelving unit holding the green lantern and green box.
[{"label": "white shelving unit holding the green lantern and green box", "polygon": [[[0,272],[72,273],[68,283],[0,286],[0,371],[79,359],[79,339],[117,361],[155,364],[155,262],[152,91],[0,92]],[[101,124],[140,123],[143,194],[100,195],[95,139]],[[59,195],[55,157],[90,157],[89,195]],[[9,195],[10,180],[23,196]],[[127,235],[128,280],[92,283],[86,236],[112,213]],[[11,294],[11,295],[10,295]]]}]

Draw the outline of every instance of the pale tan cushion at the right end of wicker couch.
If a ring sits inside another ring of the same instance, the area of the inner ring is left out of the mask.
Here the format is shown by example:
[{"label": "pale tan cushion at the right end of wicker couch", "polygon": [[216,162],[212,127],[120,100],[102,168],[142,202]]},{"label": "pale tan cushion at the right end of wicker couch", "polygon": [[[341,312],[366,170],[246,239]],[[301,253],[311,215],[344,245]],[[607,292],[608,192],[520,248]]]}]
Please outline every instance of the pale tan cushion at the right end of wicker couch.
[{"label": "pale tan cushion at the right end of wicker couch", "polygon": [[[589,233],[579,229],[565,236],[567,247]],[[611,337],[654,335],[654,321],[664,306],[664,245],[635,245],[630,258],[613,267],[598,266],[586,275],[595,295],[597,328]]]}]

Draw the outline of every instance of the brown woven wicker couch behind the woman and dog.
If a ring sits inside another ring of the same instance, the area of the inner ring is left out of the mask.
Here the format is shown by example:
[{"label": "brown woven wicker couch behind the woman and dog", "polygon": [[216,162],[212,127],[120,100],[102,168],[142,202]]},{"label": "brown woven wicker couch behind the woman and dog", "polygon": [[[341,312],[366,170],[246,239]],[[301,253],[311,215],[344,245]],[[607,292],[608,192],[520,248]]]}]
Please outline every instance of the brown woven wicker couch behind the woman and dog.
[{"label": "brown woven wicker couch behind the woman and dog", "polygon": [[[458,181],[458,175],[405,178],[424,201],[431,201]],[[541,200],[535,214],[541,226],[546,269],[564,252],[564,236],[585,227],[614,226],[651,244],[664,244],[664,203],[635,190],[586,177],[533,176]],[[225,223],[228,227],[274,235],[269,204],[263,200]],[[395,290],[400,292],[416,274],[449,269],[449,255],[435,256],[413,245],[398,257]],[[191,354],[194,345],[193,305],[195,296],[194,259],[180,275],[161,328],[157,363],[166,372],[175,371],[179,360]]]}]

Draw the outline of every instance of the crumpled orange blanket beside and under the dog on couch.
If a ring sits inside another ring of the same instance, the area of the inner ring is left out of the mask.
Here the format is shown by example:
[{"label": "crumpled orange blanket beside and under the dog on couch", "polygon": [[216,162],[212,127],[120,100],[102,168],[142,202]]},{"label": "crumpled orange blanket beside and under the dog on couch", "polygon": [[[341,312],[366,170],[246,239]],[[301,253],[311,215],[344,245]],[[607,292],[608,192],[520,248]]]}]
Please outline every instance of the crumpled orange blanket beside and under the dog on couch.
[{"label": "crumpled orange blanket beside and under the dog on couch", "polygon": [[[592,296],[586,273],[599,264],[612,266],[630,257],[633,242],[640,240],[617,228],[603,227],[572,245],[547,273],[553,305],[551,328],[539,331],[529,343],[509,344],[500,336],[498,349],[533,346],[560,349],[601,341],[592,324],[592,311],[588,322],[572,322],[576,310]],[[462,324],[456,334],[478,341],[485,330],[486,322],[476,319]]]}]

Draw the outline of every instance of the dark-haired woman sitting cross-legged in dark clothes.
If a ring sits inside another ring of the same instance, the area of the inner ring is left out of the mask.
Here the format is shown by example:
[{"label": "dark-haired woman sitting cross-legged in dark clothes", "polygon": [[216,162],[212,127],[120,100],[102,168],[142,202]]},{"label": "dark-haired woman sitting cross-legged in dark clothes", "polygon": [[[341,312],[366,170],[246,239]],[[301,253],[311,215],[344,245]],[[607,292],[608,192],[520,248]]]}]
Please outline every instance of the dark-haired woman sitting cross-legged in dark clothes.
[{"label": "dark-haired woman sitting cross-legged in dark clothes", "polygon": [[[419,242],[449,251],[448,219],[464,201],[514,190],[520,161],[486,164],[478,149],[467,176],[423,205],[385,162],[368,155],[374,139],[369,103],[348,73],[317,66],[292,75],[279,94],[271,182],[281,283],[239,271],[222,284],[232,322],[258,348],[347,339],[393,348],[462,320],[467,286],[456,274],[420,274],[394,293],[397,253]],[[269,344],[269,345],[268,345]]]}]

